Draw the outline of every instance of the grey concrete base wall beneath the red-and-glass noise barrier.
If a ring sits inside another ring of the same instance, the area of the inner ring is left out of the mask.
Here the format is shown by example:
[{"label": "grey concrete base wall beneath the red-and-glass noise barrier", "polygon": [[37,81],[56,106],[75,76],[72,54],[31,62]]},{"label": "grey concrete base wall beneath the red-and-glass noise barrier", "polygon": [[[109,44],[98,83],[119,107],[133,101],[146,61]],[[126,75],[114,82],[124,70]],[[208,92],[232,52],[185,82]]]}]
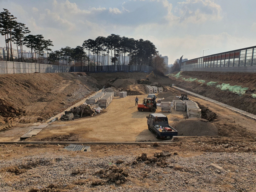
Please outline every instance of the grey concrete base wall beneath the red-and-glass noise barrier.
[{"label": "grey concrete base wall beneath the red-and-glass noise barrier", "polygon": [[256,66],[183,68],[183,69],[181,69],[181,71],[207,71],[207,72],[244,72],[244,73],[256,73]]}]

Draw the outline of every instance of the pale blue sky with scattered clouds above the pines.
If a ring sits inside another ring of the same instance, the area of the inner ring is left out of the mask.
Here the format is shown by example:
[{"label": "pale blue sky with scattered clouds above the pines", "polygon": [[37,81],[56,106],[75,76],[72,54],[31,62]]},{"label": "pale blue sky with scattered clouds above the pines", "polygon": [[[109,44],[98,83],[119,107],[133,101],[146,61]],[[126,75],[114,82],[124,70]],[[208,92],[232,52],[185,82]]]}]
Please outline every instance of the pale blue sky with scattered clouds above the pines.
[{"label": "pale blue sky with scattered clouds above the pines", "polygon": [[255,7],[256,0],[0,0],[0,11],[52,40],[52,50],[119,34],[150,40],[169,64],[255,46]]}]

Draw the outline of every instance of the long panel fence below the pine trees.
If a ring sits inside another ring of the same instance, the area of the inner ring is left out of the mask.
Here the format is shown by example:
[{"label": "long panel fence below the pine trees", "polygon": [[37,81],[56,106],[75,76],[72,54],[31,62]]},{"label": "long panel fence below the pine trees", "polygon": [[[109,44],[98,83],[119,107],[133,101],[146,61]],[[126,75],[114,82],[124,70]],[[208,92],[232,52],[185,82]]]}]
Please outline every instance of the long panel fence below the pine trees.
[{"label": "long panel fence below the pine trees", "polygon": [[0,61],[0,74],[16,73],[64,73],[64,72],[114,72],[114,71],[152,71],[151,66],[124,65],[124,66],[57,66],[48,64],[22,63]]}]

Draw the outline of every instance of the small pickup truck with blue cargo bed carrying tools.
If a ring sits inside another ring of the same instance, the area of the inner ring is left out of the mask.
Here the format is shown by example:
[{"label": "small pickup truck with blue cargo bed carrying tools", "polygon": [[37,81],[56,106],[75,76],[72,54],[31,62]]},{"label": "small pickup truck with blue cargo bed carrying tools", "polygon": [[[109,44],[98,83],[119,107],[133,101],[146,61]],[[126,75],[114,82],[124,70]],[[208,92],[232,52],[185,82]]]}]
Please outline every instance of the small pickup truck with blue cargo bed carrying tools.
[{"label": "small pickup truck with blue cargo bed carrying tools", "polygon": [[172,139],[173,136],[178,136],[178,131],[169,125],[168,118],[165,115],[152,113],[147,116],[147,119],[148,130],[154,132],[157,139]]}]

